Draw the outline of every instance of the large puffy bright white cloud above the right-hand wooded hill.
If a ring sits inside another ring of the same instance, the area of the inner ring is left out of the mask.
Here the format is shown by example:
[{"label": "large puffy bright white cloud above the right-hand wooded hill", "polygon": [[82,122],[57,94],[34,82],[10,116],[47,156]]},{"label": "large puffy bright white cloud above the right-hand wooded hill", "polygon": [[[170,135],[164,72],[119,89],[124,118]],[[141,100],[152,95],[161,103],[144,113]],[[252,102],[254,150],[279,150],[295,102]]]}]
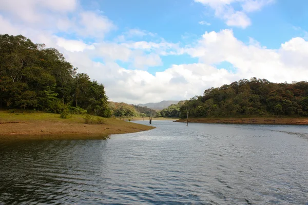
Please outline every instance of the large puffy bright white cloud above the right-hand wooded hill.
[{"label": "large puffy bright white cloud above the right-hand wooded hill", "polygon": [[195,48],[186,50],[201,63],[217,64],[227,61],[236,69],[238,78],[260,77],[275,82],[305,80],[308,64],[308,42],[293,38],[278,50],[261,47],[255,40],[245,45],[234,37],[232,30],[205,33]]}]

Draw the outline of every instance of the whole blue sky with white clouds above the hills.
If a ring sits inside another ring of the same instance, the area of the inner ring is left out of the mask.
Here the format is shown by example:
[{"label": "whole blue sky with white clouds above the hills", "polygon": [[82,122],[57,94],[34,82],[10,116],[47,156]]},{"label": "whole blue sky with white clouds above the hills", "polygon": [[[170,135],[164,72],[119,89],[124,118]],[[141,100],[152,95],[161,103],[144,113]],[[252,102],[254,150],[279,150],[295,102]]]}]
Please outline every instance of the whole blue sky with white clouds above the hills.
[{"label": "whole blue sky with white clouds above the hills", "polygon": [[307,80],[306,0],[0,0],[0,33],[64,54],[109,100],[183,100],[252,77]]}]

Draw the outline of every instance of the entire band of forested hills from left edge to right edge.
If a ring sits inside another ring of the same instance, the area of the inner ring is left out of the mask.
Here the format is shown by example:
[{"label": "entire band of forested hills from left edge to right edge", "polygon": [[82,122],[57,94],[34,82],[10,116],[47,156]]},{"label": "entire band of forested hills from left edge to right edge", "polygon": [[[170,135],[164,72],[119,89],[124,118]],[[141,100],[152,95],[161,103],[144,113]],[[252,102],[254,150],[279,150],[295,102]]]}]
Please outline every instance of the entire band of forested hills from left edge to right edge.
[{"label": "entire band of forested hills from left edge to right edge", "polygon": [[62,53],[30,39],[0,35],[0,109],[89,113],[103,117],[308,116],[306,81],[241,79],[161,111],[108,101],[104,85],[79,73]]}]

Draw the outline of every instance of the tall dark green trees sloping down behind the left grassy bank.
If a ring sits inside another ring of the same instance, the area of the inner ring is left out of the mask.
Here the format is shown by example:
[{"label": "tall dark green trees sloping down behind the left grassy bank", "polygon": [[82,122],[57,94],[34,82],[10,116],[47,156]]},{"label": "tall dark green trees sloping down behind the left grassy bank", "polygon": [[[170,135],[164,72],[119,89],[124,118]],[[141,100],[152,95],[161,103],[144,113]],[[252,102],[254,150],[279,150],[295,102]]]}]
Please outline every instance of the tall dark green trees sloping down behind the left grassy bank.
[{"label": "tall dark green trees sloping down behind the left grassy bank", "polygon": [[102,84],[22,35],[0,35],[0,108],[111,116]]}]

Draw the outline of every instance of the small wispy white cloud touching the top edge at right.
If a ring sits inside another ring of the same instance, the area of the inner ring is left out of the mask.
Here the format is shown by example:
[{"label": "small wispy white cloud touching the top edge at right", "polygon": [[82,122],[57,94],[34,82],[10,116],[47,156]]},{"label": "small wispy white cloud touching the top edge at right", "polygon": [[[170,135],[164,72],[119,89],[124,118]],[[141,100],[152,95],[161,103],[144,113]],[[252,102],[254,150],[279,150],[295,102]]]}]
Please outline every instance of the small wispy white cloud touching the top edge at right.
[{"label": "small wispy white cloud touching the top edge at right", "polygon": [[[261,10],[275,0],[195,0],[215,10],[215,15],[225,20],[226,25],[246,28],[251,25],[247,13]],[[242,11],[235,10],[233,4],[240,4]]]}]

